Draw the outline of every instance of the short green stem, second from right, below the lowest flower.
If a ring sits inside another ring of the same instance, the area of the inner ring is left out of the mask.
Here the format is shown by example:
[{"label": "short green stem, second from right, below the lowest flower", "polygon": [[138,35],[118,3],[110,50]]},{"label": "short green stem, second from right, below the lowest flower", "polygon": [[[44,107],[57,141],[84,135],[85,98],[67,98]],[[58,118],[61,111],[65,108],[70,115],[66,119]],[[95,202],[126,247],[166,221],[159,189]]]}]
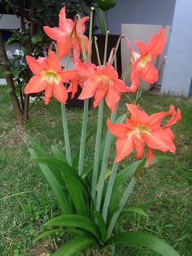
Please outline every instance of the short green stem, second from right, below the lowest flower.
[{"label": "short green stem, second from right, below the lowest flower", "polygon": [[111,201],[111,194],[112,194],[112,189],[113,189],[113,184],[115,182],[116,179],[116,172],[118,169],[119,164],[118,163],[114,163],[112,166],[112,170],[111,170],[111,176],[109,179],[109,183],[107,185],[107,192],[106,192],[106,196],[105,196],[105,201],[104,201],[104,205],[103,205],[103,219],[106,222],[107,220],[107,214],[108,214],[108,210],[109,210],[109,204]]}]

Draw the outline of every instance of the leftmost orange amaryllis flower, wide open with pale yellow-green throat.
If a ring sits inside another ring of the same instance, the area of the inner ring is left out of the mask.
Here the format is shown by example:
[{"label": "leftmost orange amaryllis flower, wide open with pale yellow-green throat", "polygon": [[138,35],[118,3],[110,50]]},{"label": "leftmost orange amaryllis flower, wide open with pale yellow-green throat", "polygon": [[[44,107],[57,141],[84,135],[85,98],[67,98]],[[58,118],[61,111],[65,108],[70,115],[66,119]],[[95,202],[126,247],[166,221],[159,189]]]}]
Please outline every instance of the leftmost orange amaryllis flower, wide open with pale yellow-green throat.
[{"label": "leftmost orange amaryllis flower, wide open with pale yellow-green throat", "polygon": [[26,85],[24,93],[37,93],[45,90],[45,104],[49,104],[52,94],[65,104],[68,99],[68,91],[63,86],[63,82],[68,82],[76,76],[76,71],[62,70],[59,59],[53,51],[49,51],[46,58],[35,60],[32,56],[27,56],[26,60],[34,76]]}]

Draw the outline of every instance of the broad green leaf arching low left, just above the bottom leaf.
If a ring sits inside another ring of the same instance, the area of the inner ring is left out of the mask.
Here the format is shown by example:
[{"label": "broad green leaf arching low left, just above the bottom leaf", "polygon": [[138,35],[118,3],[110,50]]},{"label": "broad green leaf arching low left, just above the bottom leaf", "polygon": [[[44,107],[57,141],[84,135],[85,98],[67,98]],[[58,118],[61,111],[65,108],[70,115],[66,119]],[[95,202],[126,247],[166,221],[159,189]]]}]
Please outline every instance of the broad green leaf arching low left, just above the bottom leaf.
[{"label": "broad green leaf arching low left, just above the bottom leaf", "polygon": [[98,227],[88,217],[79,214],[64,214],[55,218],[51,218],[44,225],[59,226],[59,227],[79,227],[88,232],[91,232],[99,239]]}]

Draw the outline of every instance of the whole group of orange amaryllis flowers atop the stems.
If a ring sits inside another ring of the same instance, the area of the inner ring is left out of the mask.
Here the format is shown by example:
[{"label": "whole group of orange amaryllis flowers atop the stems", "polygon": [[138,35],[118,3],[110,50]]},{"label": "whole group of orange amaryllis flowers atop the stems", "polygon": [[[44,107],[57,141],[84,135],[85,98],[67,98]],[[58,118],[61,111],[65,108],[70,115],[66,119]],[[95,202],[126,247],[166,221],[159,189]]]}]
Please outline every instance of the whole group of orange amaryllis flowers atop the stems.
[{"label": "whole group of orange amaryllis flowers atop the stems", "polygon": [[[133,93],[139,87],[139,80],[154,83],[158,80],[158,71],[152,64],[156,56],[160,55],[165,45],[165,30],[160,29],[148,44],[135,42],[140,53],[134,51],[128,38],[124,38],[131,54],[131,86],[127,86],[108,61],[107,64],[96,66],[88,61],[82,62],[81,52],[83,45],[85,51],[89,51],[89,39],[83,35],[85,32],[85,22],[89,17],[75,19],[66,18],[65,7],[59,13],[59,28],[44,27],[45,33],[56,41],[59,54],[49,51],[46,58],[35,60],[32,56],[27,56],[29,68],[34,76],[25,87],[25,93],[37,93],[45,90],[45,104],[49,104],[51,95],[62,104],[66,104],[68,93],[75,96],[77,87],[82,88],[79,99],[89,99],[94,96],[94,108],[105,98],[111,112],[116,112],[116,105],[120,101],[122,93]],[[62,69],[60,60],[63,56],[72,52],[74,68],[72,70]],[[64,83],[69,82],[68,89]],[[170,126],[181,119],[180,111],[176,111],[170,106],[168,112],[155,113],[148,116],[137,105],[127,104],[131,115],[124,124],[113,124],[107,121],[108,129],[117,137],[116,140],[116,161],[121,161],[128,156],[133,149],[137,152],[137,158],[141,158],[144,152],[144,145],[149,148],[146,157],[149,157],[147,166],[153,161],[153,149],[162,152],[175,152],[173,144],[173,134]],[[161,126],[163,117],[171,115],[167,125]]]}]

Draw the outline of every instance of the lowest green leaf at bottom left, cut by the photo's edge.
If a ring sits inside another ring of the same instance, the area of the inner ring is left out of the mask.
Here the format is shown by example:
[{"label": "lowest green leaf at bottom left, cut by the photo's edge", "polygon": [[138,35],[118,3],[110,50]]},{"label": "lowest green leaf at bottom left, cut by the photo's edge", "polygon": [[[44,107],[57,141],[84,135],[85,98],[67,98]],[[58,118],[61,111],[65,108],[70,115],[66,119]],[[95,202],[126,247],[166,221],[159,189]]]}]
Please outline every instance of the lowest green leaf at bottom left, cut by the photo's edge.
[{"label": "lowest green leaf at bottom left, cut by the photo's edge", "polygon": [[81,249],[85,249],[94,244],[96,244],[96,240],[93,236],[76,236],[63,247],[58,249],[53,256],[71,256],[81,251]]}]

